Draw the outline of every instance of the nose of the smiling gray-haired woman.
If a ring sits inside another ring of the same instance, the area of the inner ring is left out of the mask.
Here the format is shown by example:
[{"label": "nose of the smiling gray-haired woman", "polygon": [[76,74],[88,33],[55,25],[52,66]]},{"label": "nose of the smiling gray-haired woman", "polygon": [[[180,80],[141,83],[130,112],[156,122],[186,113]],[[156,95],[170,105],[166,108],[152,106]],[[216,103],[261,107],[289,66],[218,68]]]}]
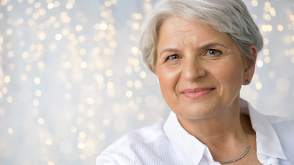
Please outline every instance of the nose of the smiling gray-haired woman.
[{"label": "nose of the smiling gray-haired woman", "polygon": [[182,78],[196,81],[207,74],[205,64],[197,58],[187,58],[182,64]]}]

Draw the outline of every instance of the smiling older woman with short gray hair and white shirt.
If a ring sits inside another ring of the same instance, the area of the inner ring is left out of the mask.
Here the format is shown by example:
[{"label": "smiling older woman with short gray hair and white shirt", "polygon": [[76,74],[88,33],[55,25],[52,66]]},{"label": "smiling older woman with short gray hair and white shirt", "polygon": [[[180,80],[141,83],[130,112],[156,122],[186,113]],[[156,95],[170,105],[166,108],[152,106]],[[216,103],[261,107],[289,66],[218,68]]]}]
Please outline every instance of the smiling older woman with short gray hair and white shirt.
[{"label": "smiling older woman with short gray hair and white shirt", "polygon": [[293,120],[240,99],[262,45],[241,0],[160,2],[140,50],[171,113],[121,137],[96,164],[294,164]]}]

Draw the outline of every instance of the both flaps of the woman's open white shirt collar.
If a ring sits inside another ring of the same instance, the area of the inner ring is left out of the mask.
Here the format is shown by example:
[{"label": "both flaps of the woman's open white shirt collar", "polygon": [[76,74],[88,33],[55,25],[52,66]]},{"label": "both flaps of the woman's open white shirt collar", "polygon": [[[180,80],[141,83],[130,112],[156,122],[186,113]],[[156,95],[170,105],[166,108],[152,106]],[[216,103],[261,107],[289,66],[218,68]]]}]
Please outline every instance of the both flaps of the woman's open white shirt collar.
[{"label": "both flaps of the woman's open white shirt collar", "polygon": [[[248,102],[247,104],[249,105],[248,110],[251,124],[256,133],[258,159],[261,160],[264,155],[273,158],[286,159],[279,137],[277,136],[277,133],[275,133],[269,120],[266,118],[266,115],[262,115],[256,111]],[[169,118],[167,118],[163,130],[169,138],[178,157],[184,164],[199,164],[204,155],[207,156],[207,159],[213,160],[209,148],[182,128],[180,122],[178,122],[176,113],[173,111],[169,114]]]}]

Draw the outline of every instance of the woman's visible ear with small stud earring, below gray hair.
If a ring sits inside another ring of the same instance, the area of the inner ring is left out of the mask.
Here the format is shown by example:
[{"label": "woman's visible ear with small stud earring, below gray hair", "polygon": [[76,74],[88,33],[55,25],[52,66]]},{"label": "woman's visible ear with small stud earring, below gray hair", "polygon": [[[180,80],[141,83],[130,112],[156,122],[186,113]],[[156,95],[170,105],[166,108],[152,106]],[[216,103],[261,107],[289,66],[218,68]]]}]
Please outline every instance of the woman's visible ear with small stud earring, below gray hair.
[{"label": "woman's visible ear with small stud earring, below gray hair", "polygon": [[[248,48],[248,51],[251,54],[251,56],[254,56],[256,61],[256,58],[258,56],[258,51],[256,50],[256,46],[250,45]],[[251,79],[253,78],[254,72],[255,72],[255,63],[245,65],[243,85],[249,85],[251,83]],[[246,80],[249,80],[249,83],[246,83]]]}]

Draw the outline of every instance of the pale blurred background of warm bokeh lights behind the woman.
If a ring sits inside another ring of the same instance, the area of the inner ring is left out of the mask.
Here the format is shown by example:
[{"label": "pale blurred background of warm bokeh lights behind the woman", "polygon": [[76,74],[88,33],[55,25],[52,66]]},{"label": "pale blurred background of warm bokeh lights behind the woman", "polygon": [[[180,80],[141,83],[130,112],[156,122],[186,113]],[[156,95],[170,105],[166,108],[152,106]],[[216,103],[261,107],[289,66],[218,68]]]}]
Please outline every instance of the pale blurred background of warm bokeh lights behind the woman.
[{"label": "pale blurred background of warm bokeh lights behind the woman", "polygon": [[[138,50],[156,1],[1,1],[0,164],[94,164],[127,131],[167,118]],[[294,2],[244,2],[264,47],[240,95],[294,118]]]}]

